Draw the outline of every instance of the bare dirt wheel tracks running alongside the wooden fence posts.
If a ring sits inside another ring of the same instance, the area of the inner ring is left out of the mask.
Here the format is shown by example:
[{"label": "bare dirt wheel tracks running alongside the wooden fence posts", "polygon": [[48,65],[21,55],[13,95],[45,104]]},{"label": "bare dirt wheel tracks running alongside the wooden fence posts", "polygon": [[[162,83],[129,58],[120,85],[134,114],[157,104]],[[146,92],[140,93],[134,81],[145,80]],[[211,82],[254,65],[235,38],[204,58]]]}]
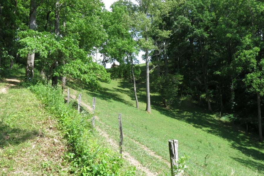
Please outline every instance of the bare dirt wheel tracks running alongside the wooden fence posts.
[{"label": "bare dirt wheel tracks running alongside the wooden fence posts", "polygon": [[[72,95],[72,94],[71,94],[70,97],[72,97],[73,99],[76,99],[76,96],[75,96],[75,95]],[[82,101],[81,101],[81,106],[84,106],[84,107],[86,107],[89,111],[92,111],[92,107],[89,106],[89,105],[87,105],[87,104],[85,104],[85,103],[82,102]],[[99,123],[101,123],[102,125],[107,126],[107,125],[105,125],[103,122],[101,122],[97,116],[95,116],[95,119],[96,119]],[[108,126],[108,127],[109,127],[109,126]],[[96,128],[96,130],[100,133],[101,136],[104,136],[104,137],[108,140],[108,142],[109,142],[109,144],[110,144],[111,146],[113,146],[113,147],[116,148],[116,149],[119,148],[119,146],[117,145],[117,143],[114,142],[106,132],[102,131],[98,126],[96,126],[95,128]],[[126,136],[126,135],[123,135],[123,136]],[[128,136],[127,136],[127,137],[128,137]],[[128,137],[128,138],[129,138],[129,137]],[[139,143],[138,141],[135,141],[135,140],[132,139],[132,138],[129,138],[129,139],[130,139],[131,141],[133,141],[134,143],[136,143],[137,145],[139,145],[139,146],[140,146],[143,150],[145,150],[149,155],[151,155],[151,156],[153,156],[153,157],[155,157],[155,158],[158,158],[159,160],[163,161],[164,163],[166,163],[166,164],[170,167],[170,163],[169,163],[168,161],[164,160],[161,156],[155,154],[155,152],[153,152],[152,150],[150,150],[148,147],[146,147],[145,145]],[[145,172],[146,175],[148,175],[148,176],[155,176],[155,175],[158,175],[157,172],[156,172],[156,173],[153,173],[153,172],[151,172],[147,167],[143,166],[138,160],[136,160],[135,158],[133,158],[129,153],[127,153],[127,152],[123,152],[123,156],[124,156],[124,158],[125,158],[126,160],[128,160],[132,165],[136,166],[137,169],[140,169],[140,170],[142,170],[143,172]]]}]

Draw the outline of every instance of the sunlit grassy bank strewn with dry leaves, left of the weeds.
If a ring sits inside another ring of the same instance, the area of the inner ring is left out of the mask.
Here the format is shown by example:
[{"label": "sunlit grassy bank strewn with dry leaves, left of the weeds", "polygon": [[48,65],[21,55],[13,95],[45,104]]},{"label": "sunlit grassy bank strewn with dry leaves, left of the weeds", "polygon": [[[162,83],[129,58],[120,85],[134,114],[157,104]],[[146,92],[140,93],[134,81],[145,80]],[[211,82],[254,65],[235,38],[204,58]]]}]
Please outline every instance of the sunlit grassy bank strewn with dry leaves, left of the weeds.
[{"label": "sunlit grassy bank strewn with dry leaves, left of the weeds", "polygon": [[[0,88],[6,84],[1,81]],[[29,90],[13,86],[0,93],[0,175],[66,174],[66,141],[56,127]]]}]

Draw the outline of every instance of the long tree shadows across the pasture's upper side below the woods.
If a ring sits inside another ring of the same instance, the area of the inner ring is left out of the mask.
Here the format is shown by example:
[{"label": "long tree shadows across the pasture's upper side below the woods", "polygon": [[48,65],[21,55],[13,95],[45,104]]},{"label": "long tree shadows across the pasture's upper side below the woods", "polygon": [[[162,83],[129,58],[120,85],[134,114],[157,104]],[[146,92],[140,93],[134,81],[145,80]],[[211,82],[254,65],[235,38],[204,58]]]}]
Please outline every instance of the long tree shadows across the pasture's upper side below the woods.
[{"label": "long tree shadows across the pasture's upper side below the woods", "polygon": [[[69,85],[74,89],[78,89],[74,82],[69,82]],[[120,80],[117,87],[118,88],[113,88],[113,89],[104,88],[103,90],[92,92],[89,89],[89,87],[83,86],[83,88],[91,92],[91,95],[94,97],[98,97],[100,99],[109,102],[113,100],[119,101],[129,106],[133,106],[131,102],[125,101],[124,99],[122,99],[122,96],[120,94],[116,93],[116,92],[120,92],[121,94],[126,94],[132,100],[134,100],[135,97],[134,97],[133,84],[130,82]],[[137,84],[136,87],[137,87],[138,101],[145,102],[146,100],[145,84],[141,82]],[[124,90],[124,88],[128,88],[129,91]],[[238,126],[235,126],[232,123],[223,122],[219,119],[215,119],[212,115],[208,114],[207,111],[199,107],[194,107],[195,105],[192,103],[189,104],[185,103],[182,106],[178,104],[177,106],[165,109],[164,107],[160,106],[161,105],[160,96],[152,94],[150,100],[151,100],[151,108],[157,110],[160,114],[163,114],[172,119],[184,121],[186,123],[191,124],[195,128],[200,128],[207,133],[224,138],[227,141],[229,141],[230,146],[232,148],[239,150],[241,153],[245,154],[246,156],[259,161],[264,160],[264,153],[262,150],[264,148],[264,145],[262,143],[257,142],[258,137],[256,135],[251,133],[244,133],[241,131],[241,129]],[[247,165],[243,161],[239,161],[239,162]],[[261,163],[257,163],[255,165],[256,166],[261,165]]]}]

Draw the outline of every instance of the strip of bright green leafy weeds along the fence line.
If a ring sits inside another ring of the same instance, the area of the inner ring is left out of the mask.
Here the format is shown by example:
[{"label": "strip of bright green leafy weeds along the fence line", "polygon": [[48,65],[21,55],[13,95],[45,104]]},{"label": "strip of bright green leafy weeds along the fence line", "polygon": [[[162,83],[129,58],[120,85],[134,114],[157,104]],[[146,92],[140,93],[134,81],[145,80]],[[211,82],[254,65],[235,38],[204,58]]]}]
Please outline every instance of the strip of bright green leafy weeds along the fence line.
[{"label": "strip of bright green leafy weeds along the fence line", "polygon": [[120,156],[99,146],[91,130],[91,114],[79,114],[73,106],[67,106],[60,88],[38,83],[30,86],[29,89],[59,120],[60,128],[70,146],[66,158],[71,162],[73,173],[83,176],[135,175],[134,168],[128,171],[121,170],[123,160]]}]

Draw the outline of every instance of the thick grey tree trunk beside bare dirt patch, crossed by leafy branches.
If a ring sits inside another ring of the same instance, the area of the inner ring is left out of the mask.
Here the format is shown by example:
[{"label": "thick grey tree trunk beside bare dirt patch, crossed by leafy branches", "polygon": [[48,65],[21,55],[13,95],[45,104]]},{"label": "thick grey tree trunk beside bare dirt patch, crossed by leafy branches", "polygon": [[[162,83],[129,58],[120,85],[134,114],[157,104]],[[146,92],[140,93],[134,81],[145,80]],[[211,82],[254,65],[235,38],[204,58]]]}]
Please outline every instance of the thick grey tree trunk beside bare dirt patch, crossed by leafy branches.
[{"label": "thick grey tree trunk beside bare dirt patch, crossed by leafy branches", "polygon": [[[29,12],[29,29],[36,30],[37,24],[37,4],[35,0],[30,0],[30,12]],[[34,58],[35,53],[32,51],[31,53],[28,53],[27,56],[27,65],[26,65],[26,77],[27,78],[33,78],[34,76]]]}]

